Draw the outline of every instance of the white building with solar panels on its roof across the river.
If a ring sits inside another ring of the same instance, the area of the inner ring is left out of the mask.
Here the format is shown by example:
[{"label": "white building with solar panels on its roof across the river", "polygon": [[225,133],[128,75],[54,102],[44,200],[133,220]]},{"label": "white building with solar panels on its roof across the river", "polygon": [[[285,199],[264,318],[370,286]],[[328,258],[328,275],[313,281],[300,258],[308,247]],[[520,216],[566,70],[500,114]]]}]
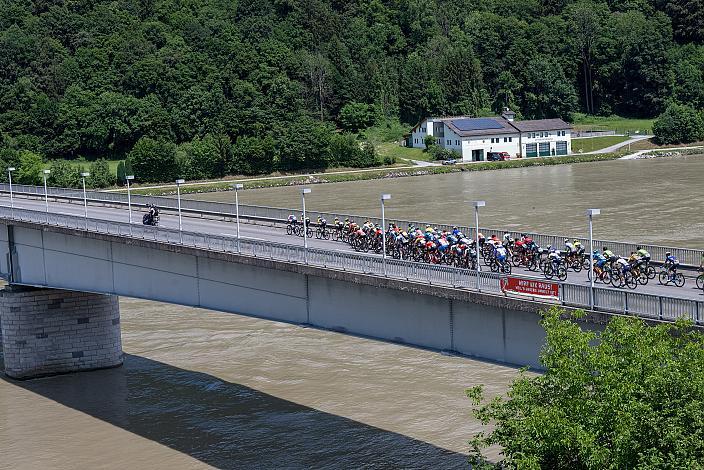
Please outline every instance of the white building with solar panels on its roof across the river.
[{"label": "white building with solar panels on its roof across the river", "polygon": [[463,161],[484,161],[490,152],[507,152],[511,158],[547,157],[572,152],[572,127],[562,119],[514,121],[514,113],[500,117],[466,116],[428,118],[415,126],[406,146],[425,148],[425,137],[454,150]]}]

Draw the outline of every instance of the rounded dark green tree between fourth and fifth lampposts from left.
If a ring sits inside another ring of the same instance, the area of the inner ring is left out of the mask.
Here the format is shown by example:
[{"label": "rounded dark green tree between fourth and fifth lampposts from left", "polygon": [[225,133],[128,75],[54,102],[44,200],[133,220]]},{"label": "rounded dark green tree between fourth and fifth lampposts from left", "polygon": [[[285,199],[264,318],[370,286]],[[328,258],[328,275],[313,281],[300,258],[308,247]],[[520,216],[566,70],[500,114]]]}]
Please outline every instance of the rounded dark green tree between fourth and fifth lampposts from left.
[{"label": "rounded dark green tree between fourth and fifth lampposts from left", "polygon": [[171,142],[142,137],[129,154],[138,181],[160,183],[173,181],[176,173],[176,146]]}]

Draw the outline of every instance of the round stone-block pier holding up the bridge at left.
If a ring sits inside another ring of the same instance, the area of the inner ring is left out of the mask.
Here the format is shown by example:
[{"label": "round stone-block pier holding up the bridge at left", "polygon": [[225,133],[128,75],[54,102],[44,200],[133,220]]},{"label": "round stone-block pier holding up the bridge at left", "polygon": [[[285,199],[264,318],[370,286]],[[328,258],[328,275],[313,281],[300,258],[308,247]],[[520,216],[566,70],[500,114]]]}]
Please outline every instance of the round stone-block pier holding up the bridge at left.
[{"label": "round stone-block pier holding up the bridge at left", "polygon": [[0,290],[5,373],[29,379],[122,364],[118,297],[6,286]]}]

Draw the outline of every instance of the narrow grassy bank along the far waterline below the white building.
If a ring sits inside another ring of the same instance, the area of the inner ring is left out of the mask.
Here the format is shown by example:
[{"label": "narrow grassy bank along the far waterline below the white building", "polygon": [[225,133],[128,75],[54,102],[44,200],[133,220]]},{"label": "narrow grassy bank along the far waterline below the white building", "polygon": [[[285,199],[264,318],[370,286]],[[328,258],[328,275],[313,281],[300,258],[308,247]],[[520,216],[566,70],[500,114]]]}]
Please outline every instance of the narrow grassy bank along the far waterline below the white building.
[{"label": "narrow grassy bank along the far waterline below the white building", "polygon": [[[232,185],[235,183],[241,183],[244,186],[244,189],[262,189],[282,186],[341,183],[349,181],[404,178],[409,176],[441,175],[448,173],[494,171],[509,168],[589,163],[615,160],[622,156],[623,154],[621,153],[567,155],[564,157],[524,158],[506,162],[460,163],[456,165],[442,166],[404,166],[384,169],[329,171],[299,175],[265,176],[258,178],[235,178],[223,181],[186,183],[181,185],[181,194],[231,191]],[[124,189],[113,191],[124,191]],[[134,186],[132,191],[134,194],[145,196],[170,196],[176,194],[176,186],[173,184],[146,187]]]}]

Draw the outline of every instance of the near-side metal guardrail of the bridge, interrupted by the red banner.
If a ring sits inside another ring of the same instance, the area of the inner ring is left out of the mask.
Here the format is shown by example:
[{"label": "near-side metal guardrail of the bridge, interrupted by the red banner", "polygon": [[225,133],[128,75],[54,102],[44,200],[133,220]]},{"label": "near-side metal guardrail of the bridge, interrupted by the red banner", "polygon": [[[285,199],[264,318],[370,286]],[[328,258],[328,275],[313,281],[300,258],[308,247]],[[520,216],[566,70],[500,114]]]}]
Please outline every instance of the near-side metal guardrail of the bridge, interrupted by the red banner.
[{"label": "near-side metal guardrail of the bridge, interrupted by the red banner", "polygon": [[[437,266],[426,263],[386,260],[386,274],[379,256],[363,255],[336,250],[323,250],[285,243],[206,235],[196,232],[179,232],[174,229],[152,227],[101,219],[51,214],[26,209],[0,207],[0,219],[19,220],[42,225],[55,225],[90,232],[106,233],[129,238],[150,240],[158,243],[179,244],[210,251],[240,253],[245,256],[304,263],[323,268],[388,277],[421,284],[438,285],[473,290],[477,283],[476,271]],[[482,292],[502,295],[500,276],[495,273],[479,273]],[[521,276],[516,276],[521,277]],[[559,303],[564,306],[590,308],[590,288],[577,284],[561,283]],[[656,320],[671,321],[685,316],[697,324],[704,323],[704,302],[678,299],[651,294],[621,291],[602,287],[594,288],[594,311],[630,314]]]}]

